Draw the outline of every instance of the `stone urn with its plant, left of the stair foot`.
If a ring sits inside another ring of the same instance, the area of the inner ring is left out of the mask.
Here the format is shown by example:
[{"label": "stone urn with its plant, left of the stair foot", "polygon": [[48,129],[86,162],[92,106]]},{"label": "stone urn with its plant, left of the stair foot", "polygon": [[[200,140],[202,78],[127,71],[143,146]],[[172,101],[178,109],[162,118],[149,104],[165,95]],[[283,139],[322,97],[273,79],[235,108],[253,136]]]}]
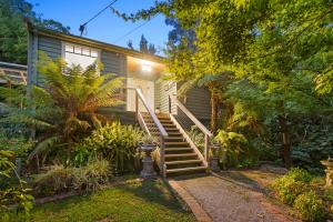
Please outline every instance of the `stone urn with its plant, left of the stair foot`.
[{"label": "stone urn with its plant, left of the stair foot", "polygon": [[153,160],[151,158],[151,153],[157,149],[157,142],[154,138],[149,134],[144,135],[139,143],[139,148],[144,152],[144,158],[142,160],[143,168],[140,175],[145,179],[154,178],[157,172],[154,171]]}]

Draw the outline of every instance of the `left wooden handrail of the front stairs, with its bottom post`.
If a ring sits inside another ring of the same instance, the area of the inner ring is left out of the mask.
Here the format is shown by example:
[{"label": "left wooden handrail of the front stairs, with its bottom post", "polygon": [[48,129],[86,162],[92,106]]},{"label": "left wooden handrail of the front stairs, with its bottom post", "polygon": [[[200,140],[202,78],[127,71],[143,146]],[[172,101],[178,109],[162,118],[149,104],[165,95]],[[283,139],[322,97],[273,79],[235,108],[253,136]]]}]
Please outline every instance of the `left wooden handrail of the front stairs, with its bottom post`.
[{"label": "left wooden handrail of the front stairs, with its bottom post", "polygon": [[[165,158],[164,158],[164,153],[165,153],[165,139],[169,137],[168,132],[165,131],[165,129],[163,128],[163,125],[161,124],[159,118],[157,117],[155,112],[152,110],[152,108],[148,104],[141,89],[134,89],[135,90],[135,118],[137,121],[139,122],[139,124],[141,125],[142,129],[144,129],[147,131],[147,133],[149,135],[152,135],[152,132],[150,132],[143,117],[142,113],[140,111],[140,108],[143,108],[147,113],[149,114],[150,119],[153,121],[153,123],[155,124],[158,132],[159,132],[159,140],[160,140],[160,170],[163,174],[163,176],[165,178]],[[142,105],[140,105],[142,104]]]}]

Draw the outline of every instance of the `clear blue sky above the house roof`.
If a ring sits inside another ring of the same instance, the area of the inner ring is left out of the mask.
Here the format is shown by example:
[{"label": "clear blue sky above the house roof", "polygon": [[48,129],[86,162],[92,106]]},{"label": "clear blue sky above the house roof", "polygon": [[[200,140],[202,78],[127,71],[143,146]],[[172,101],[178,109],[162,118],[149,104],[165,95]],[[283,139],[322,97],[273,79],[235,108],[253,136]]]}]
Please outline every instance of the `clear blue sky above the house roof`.
[{"label": "clear blue sky above the house roof", "polygon": [[[87,22],[113,0],[27,1],[34,4],[33,10],[41,14],[43,19],[60,21],[71,28],[72,34],[80,36],[79,26]],[[153,6],[153,0],[118,0],[112,7],[121,12],[131,13],[140,9],[147,9],[150,6]],[[148,42],[155,44],[159,50],[164,48],[168,41],[168,32],[172,29],[172,27],[165,26],[164,19],[163,16],[157,16],[131,34],[123,37],[145,21],[125,22],[108,9],[88,24],[87,34],[83,37],[121,47],[127,47],[128,41],[132,40],[133,47],[138,49],[141,34],[144,34]]]}]

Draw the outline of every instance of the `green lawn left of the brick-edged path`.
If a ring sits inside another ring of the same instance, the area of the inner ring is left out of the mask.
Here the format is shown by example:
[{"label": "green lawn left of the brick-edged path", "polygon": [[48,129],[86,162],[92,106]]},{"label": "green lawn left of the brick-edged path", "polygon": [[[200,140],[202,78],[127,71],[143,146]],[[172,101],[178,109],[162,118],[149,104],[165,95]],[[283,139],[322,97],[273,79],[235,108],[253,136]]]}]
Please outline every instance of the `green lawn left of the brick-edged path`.
[{"label": "green lawn left of the brick-edged path", "polygon": [[195,221],[161,180],[135,181],[36,206],[36,222]]}]

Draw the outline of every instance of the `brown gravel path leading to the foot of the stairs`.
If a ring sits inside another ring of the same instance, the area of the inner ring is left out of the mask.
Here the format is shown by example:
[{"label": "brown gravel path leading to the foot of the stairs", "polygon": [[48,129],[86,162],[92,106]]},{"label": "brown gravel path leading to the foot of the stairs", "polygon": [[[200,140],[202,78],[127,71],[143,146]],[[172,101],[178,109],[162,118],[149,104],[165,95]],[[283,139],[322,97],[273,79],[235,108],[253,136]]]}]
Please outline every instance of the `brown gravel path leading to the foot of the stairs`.
[{"label": "brown gravel path leading to the foot of the stairs", "polygon": [[230,181],[208,175],[194,179],[178,180],[212,216],[221,222],[281,222],[291,220],[265,196]]}]

